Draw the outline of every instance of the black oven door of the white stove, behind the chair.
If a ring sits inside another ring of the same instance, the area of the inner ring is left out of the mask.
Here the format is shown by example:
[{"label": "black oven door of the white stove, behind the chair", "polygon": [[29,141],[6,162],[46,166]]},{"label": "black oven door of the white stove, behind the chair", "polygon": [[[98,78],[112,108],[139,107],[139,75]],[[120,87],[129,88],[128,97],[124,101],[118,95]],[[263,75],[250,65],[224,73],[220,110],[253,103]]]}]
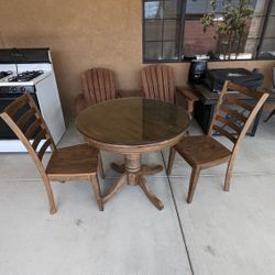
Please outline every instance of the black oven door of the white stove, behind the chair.
[{"label": "black oven door of the white stove, behind the chair", "polygon": [[[0,112],[4,110],[11,102],[13,102],[16,98],[22,96],[23,94],[3,94],[0,92]],[[38,106],[37,98],[35,94],[30,94],[36,105]],[[23,109],[22,109],[23,111]],[[16,114],[20,118],[20,111]],[[0,118],[0,140],[18,140],[16,135],[12,132],[9,125]]]}]

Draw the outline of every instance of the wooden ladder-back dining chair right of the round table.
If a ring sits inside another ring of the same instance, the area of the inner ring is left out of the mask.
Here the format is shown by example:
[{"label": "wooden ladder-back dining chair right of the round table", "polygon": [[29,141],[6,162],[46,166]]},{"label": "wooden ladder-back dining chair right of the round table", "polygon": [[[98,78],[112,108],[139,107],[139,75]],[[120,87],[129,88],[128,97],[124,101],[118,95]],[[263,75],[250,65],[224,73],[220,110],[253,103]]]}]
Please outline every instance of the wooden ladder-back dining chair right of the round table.
[{"label": "wooden ladder-back dining chair right of the round table", "polygon": [[[228,94],[229,89],[237,94],[234,96]],[[238,94],[251,98],[251,103],[239,100]],[[172,172],[176,152],[193,167],[187,197],[188,204],[193,200],[200,170],[227,162],[224,190],[229,191],[230,177],[241,142],[267,97],[268,94],[226,81],[208,134],[184,136],[178,144],[170,148],[168,175]],[[212,132],[226,136],[232,143],[232,150],[215,140],[211,136]]]}]

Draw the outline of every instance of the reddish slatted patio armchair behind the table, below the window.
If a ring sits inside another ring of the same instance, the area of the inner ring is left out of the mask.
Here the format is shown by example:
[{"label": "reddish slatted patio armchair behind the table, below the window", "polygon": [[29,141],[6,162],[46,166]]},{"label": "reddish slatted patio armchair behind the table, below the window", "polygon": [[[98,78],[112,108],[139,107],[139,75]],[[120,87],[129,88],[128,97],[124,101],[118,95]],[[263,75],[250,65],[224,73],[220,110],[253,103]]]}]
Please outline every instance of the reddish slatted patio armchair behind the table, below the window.
[{"label": "reddish slatted patio armchair behind the table, below the window", "polygon": [[173,68],[166,65],[150,65],[142,69],[142,92],[145,98],[176,103],[176,92],[182,95],[184,107],[191,116],[198,98],[187,88],[176,87]]}]

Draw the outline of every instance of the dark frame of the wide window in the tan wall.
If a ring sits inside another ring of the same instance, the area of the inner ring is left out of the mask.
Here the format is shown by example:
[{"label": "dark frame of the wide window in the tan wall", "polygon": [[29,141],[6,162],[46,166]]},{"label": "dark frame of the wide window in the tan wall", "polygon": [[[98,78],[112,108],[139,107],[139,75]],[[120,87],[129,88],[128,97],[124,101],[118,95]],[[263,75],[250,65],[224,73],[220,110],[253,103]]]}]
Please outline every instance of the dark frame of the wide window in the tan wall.
[{"label": "dark frame of the wide window in the tan wall", "polygon": [[[154,1],[154,0],[151,0]],[[184,59],[183,58],[183,45],[184,45],[184,35],[185,35],[185,22],[186,22],[186,18],[188,18],[188,15],[186,16],[186,4],[187,4],[187,0],[180,0],[180,19],[179,19],[179,33],[180,33],[180,37],[179,37],[179,50],[178,50],[178,58],[177,59],[146,59],[145,58],[145,2],[151,2],[150,0],[142,0],[142,63],[143,64],[152,64],[152,63],[190,63],[190,59]],[[161,1],[161,0],[160,0]],[[209,59],[208,62],[253,62],[253,61],[275,61],[275,56],[274,58],[258,58],[260,54],[261,54],[261,48],[263,46],[263,41],[265,38],[265,33],[266,33],[266,29],[267,29],[267,24],[268,24],[268,20],[271,16],[271,12],[272,12],[272,4],[273,4],[273,0],[267,0],[267,9],[266,9],[266,14],[264,15],[264,22],[263,22],[263,31],[261,32],[260,38],[258,38],[258,44],[256,45],[256,54],[254,58],[250,58],[250,59]],[[275,35],[274,35],[275,38]],[[274,45],[275,46],[275,45]]]}]

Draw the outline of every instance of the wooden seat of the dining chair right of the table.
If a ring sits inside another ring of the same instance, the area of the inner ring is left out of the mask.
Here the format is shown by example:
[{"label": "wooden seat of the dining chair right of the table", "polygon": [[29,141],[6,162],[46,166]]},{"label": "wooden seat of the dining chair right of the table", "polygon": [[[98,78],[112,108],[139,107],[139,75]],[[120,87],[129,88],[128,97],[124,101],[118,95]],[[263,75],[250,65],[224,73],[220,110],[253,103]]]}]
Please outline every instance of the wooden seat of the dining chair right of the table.
[{"label": "wooden seat of the dining chair right of the table", "polygon": [[191,165],[209,167],[230,158],[229,151],[221,143],[207,135],[184,136],[175,150]]}]

